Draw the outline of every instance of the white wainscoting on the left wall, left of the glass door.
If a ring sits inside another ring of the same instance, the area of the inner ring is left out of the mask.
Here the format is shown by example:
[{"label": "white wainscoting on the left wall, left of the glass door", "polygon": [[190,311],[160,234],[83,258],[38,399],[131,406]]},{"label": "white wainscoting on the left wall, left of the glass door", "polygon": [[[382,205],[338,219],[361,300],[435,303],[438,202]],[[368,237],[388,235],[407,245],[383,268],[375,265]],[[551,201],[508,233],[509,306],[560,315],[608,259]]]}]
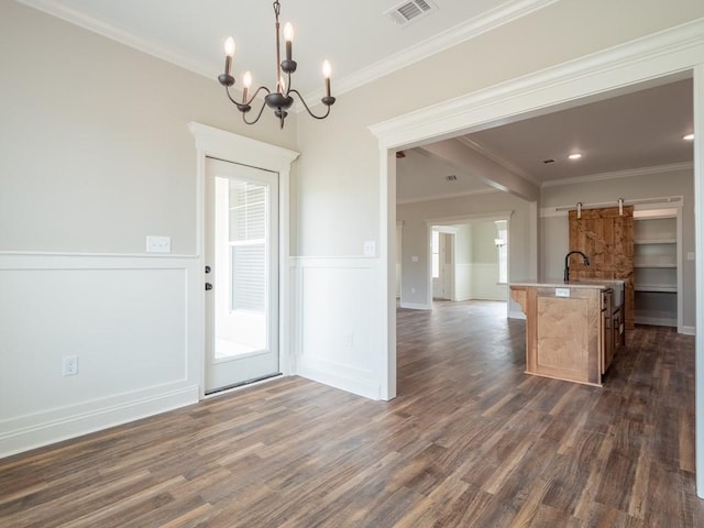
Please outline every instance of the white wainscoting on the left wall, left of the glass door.
[{"label": "white wainscoting on the left wall, left of the glass door", "polygon": [[197,402],[199,268],[0,254],[0,457]]}]

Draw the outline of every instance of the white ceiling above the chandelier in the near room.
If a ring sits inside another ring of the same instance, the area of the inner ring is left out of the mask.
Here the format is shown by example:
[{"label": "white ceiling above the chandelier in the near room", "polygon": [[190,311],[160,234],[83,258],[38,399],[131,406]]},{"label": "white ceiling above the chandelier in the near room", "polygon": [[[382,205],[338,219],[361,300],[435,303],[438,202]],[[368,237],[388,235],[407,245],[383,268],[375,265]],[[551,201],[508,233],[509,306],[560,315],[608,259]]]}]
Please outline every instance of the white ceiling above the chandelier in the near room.
[{"label": "white ceiling above the chandelier in the near room", "polygon": [[[276,79],[271,0],[18,1],[213,80],[232,35],[235,77],[251,70],[255,85]],[[402,0],[279,1],[282,26],[292,22],[295,30],[292,85],[308,95],[322,91],[323,59],[340,94],[557,0],[426,0],[437,10],[405,25],[384,14]]]}]

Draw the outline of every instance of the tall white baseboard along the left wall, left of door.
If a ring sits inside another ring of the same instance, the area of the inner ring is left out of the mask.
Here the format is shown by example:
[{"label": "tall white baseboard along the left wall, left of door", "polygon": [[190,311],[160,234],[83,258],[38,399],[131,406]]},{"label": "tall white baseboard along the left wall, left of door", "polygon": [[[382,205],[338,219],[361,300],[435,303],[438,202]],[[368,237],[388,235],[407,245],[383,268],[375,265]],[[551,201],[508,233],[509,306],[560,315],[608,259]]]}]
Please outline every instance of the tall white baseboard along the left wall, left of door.
[{"label": "tall white baseboard along the left wall, left of door", "polygon": [[81,406],[82,409],[73,414],[70,408],[62,408],[41,414],[46,416],[3,420],[0,429],[7,432],[0,433],[0,458],[196,404],[199,396],[198,386],[148,393],[152,394],[139,397],[132,394],[129,399],[118,397],[114,398],[118,402],[105,402],[102,406],[94,405],[88,409]]}]

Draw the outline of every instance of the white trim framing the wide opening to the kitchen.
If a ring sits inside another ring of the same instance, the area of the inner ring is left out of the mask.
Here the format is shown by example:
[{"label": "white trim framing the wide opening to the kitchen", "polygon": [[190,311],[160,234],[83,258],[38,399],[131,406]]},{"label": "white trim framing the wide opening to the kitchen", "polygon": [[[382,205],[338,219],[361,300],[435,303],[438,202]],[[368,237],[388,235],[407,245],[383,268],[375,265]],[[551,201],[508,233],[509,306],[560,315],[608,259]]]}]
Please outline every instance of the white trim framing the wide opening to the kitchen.
[{"label": "white trim framing the wide opening to the kitchen", "polygon": [[[374,124],[380,145],[381,265],[387,321],[382,339],[387,343],[381,361],[382,395],[396,396],[395,229],[396,160],[393,151],[455,138],[491,123],[519,116],[538,116],[547,109],[569,108],[587,100],[626,94],[632,85],[661,84],[663,78],[694,78],[694,201],[696,234],[696,484],[704,498],[704,19],[647,35],[564,64],[477,90],[468,96],[422,108]],[[537,222],[537,210],[536,210]],[[537,248],[537,234],[535,237]],[[537,270],[537,251],[535,263]],[[384,288],[384,284],[386,288]]]}]

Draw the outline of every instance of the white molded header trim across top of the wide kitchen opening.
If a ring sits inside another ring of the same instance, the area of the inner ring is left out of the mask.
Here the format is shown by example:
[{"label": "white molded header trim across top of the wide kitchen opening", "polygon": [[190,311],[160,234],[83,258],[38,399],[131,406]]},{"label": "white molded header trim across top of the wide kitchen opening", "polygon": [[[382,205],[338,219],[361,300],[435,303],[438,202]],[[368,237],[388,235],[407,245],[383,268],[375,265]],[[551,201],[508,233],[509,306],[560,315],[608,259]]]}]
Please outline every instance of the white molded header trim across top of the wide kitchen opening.
[{"label": "white molded header trim across top of the wide kitchen opening", "polygon": [[[570,103],[610,88],[683,74],[704,56],[704,18],[662,30],[615,47],[517,77],[472,94],[381,121],[369,127],[382,148],[415,145],[458,135],[498,118]],[[618,78],[618,80],[616,80]]]}]

